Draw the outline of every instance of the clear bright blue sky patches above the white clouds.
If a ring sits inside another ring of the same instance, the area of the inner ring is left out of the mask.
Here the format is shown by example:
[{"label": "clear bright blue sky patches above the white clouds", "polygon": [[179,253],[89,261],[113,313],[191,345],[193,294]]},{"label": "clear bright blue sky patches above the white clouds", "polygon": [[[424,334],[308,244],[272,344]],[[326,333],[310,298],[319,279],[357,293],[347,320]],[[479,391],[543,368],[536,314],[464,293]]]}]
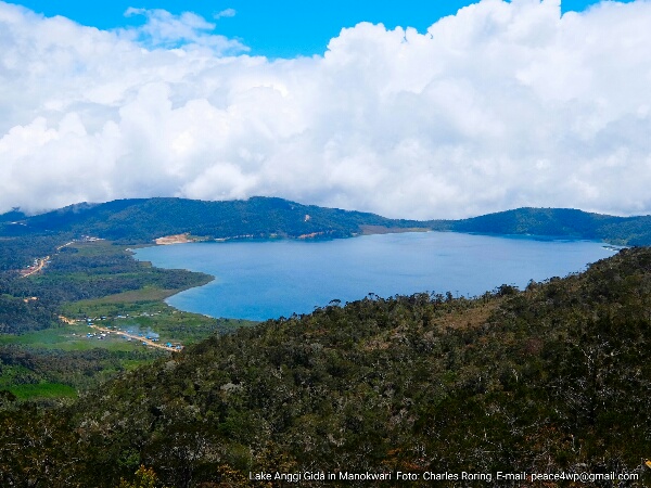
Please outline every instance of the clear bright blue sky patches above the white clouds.
[{"label": "clear bright blue sky patches above the white clouds", "polygon": [[[628,1],[628,0],[625,0]],[[387,28],[416,27],[426,30],[442,16],[452,15],[469,0],[25,0],[17,2],[47,16],[63,15],[82,25],[112,29],[144,22],[141,16],[125,17],[125,11],[163,9],[171,14],[194,12],[210,21],[219,12],[235,11],[234,16],[216,21],[216,33],[238,38],[251,54],[269,57],[322,54],[329,40],[343,27],[359,22],[382,23]],[[564,0],[562,12],[583,11],[596,0]]]}]

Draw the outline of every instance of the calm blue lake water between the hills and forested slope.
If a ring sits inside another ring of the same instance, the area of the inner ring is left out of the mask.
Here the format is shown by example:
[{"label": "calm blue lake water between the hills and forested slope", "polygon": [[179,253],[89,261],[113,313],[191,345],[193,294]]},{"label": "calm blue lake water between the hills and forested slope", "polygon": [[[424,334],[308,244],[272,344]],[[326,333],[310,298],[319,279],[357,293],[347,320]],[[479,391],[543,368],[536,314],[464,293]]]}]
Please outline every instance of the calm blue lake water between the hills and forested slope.
[{"label": "calm blue lake water between the hills and forested slope", "polygon": [[170,297],[176,308],[212,317],[265,320],[308,313],[332,299],[369,293],[475,296],[500,284],[520,288],[578,272],[612,256],[589,241],[540,241],[454,232],[366,235],[333,241],[193,243],[137,249],[154,266],[203,271],[205,286]]}]

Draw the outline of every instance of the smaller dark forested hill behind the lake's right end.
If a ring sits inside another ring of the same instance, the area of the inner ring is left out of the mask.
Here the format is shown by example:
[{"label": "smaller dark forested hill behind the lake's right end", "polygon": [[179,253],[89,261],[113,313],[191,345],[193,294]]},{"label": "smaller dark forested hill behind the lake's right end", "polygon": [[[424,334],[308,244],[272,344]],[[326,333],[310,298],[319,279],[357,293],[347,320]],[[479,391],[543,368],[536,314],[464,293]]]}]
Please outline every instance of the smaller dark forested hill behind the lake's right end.
[{"label": "smaller dark forested hill behind the lake's right end", "polygon": [[651,245],[651,216],[615,217],[573,208],[518,208],[462,220],[423,222],[434,230],[497,235],[538,235]]}]

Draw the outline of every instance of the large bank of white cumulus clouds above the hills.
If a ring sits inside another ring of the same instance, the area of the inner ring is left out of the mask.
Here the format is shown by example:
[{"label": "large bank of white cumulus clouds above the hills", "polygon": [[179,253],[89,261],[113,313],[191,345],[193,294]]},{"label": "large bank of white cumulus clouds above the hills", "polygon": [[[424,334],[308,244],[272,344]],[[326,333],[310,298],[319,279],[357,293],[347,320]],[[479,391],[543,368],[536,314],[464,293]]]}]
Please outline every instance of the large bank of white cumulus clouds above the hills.
[{"label": "large bank of white cumulus clouds above the hills", "polygon": [[484,0],[251,56],[186,13],[102,31],[0,2],[0,211],[272,195],[390,217],[651,211],[651,3]]}]

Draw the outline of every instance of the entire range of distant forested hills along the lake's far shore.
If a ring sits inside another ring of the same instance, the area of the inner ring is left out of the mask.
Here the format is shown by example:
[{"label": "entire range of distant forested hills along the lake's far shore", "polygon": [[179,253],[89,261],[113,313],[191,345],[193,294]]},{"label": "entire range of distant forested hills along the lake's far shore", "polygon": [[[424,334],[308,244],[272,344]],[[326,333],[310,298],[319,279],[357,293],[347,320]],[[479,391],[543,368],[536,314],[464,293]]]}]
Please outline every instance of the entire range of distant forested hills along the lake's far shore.
[{"label": "entire range of distant forested hills along the lake's far shore", "polygon": [[615,217],[572,208],[518,208],[461,220],[418,221],[257,196],[228,202],[118,200],[71,205],[33,217],[17,210],[0,216],[0,235],[72,232],[129,243],[182,233],[210,239],[346,237],[410,228],[651,245],[651,216]]}]

